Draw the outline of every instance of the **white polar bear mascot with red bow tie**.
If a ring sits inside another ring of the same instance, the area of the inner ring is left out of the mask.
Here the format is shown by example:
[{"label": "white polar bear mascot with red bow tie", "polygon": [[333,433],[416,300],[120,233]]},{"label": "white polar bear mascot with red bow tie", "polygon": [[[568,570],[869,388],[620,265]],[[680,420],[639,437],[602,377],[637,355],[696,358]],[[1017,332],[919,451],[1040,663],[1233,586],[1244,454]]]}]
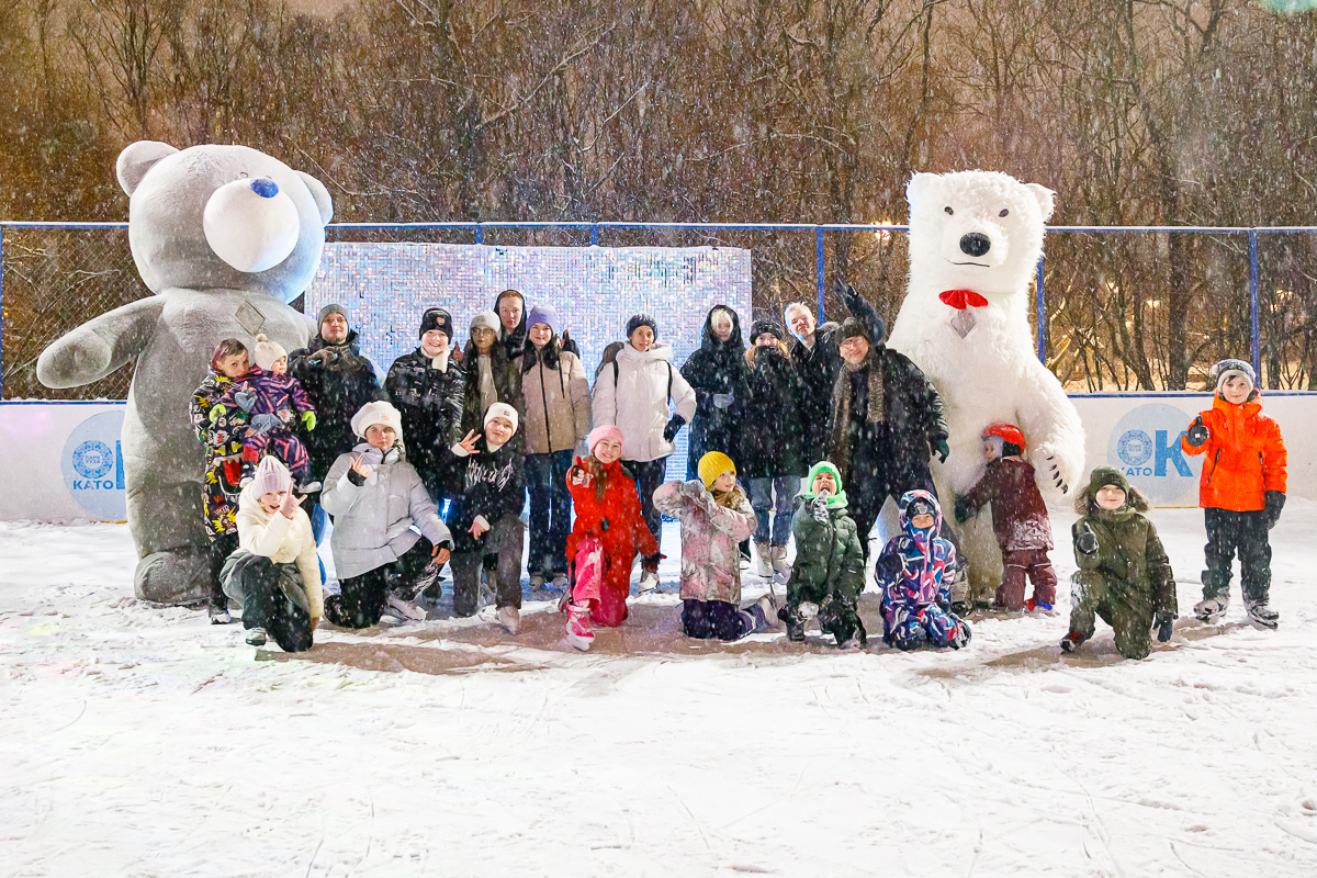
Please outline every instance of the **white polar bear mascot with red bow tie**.
[{"label": "white polar bear mascot with red bow tie", "polygon": [[[951,509],[984,473],[982,430],[1019,426],[1044,496],[1084,475],[1084,428],[1056,376],[1038,361],[1029,328],[1030,282],[1043,251],[1054,192],[996,171],[915,174],[910,201],[910,286],[889,346],[938,388],[951,455],[934,478]],[[990,519],[959,528],[972,600],[1001,582]]]}]

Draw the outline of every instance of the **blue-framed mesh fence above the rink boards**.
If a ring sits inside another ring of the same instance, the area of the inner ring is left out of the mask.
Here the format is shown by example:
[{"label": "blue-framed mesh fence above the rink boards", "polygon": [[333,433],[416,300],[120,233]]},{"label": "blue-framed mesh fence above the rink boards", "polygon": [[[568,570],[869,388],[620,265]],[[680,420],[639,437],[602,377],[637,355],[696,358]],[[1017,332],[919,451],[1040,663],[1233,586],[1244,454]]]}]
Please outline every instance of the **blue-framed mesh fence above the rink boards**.
[{"label": "blue-framed mesh fence above the rink boards", "polygon": [[[781,319],[790,301],[839,317],[842,305],[824,283],[832,275],[846,276],[892,321],[907,266],[905,228],[896,225],[340,224],[327,238],[744,247],[752,254],[747,326]],[[1044,321],[1039,351],[1072,392],[1198,390],[1222,357],[1252,359],[1266,387],[1312,388],[1317,229],[1056,226],[1046,249],[1031,321],[1035,333],[1039,316]],[[144,295],[126,224],[0,224],[0,396],[122,399],[128,367],[53,391],[36,378],[37,357],[66,332]]]}]

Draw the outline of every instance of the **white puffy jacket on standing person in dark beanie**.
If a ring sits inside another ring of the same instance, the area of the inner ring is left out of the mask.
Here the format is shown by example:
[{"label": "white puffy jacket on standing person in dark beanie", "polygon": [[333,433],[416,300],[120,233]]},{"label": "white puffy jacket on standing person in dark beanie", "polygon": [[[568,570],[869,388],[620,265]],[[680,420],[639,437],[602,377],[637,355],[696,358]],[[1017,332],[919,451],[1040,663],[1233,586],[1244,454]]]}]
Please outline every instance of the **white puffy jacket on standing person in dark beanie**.
[{"label": "white puffy jacket on standing person in dark beanie", "polygon": [[657,461],[676,449],[662,437],[670,417],[669,386],[676,413],[687,424],[695,416],[695,391],[670,361],[668,345],[655,344],[644,353],[626,345],[618,351],[616,371],[606,365],[595,378],[594,425],[622,430],[622,455],[628,461]]}]

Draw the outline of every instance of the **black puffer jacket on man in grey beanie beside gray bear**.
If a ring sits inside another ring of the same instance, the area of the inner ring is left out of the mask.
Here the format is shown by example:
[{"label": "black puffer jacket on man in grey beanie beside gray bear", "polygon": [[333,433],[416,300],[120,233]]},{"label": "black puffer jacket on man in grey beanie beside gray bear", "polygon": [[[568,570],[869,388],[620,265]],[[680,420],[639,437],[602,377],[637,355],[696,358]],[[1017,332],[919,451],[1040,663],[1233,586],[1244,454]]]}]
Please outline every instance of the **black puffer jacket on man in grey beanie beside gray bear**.
[{"label": "black puffer jacket on man in grey beanie beside gray bear", "polygon": [[356,330],[341,345],[316,336],[306,348],[288,354],[288,374],[298,379],[316,407],[316,429],[302,438],[311,457],[311,474],[319,480],[337,457],[357,444],[352,416],[366,403],[385,399],[370,359],[357,348]]}]

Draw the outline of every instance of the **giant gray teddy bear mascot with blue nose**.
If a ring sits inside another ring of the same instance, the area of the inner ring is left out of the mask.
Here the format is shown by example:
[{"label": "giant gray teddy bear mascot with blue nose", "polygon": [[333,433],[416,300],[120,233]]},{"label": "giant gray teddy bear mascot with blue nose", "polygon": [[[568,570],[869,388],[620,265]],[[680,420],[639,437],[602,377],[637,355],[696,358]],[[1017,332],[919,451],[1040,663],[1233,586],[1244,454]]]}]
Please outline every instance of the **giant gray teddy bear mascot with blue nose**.
[{"label": "giant gray teddy bear mascot with blue nose", "polygon": [[37,361],[47,387],[76,387],[137,361],[124,415],[133,590],[194,603],[209,587],[203,449],[188,404],[224,338],[265,333],[304,348],[311,321],[288,307],[315,278],[333,215],[313,176],[246,146],[138,141],[119,155],[128,238],[155,295],[63,336]]}]

